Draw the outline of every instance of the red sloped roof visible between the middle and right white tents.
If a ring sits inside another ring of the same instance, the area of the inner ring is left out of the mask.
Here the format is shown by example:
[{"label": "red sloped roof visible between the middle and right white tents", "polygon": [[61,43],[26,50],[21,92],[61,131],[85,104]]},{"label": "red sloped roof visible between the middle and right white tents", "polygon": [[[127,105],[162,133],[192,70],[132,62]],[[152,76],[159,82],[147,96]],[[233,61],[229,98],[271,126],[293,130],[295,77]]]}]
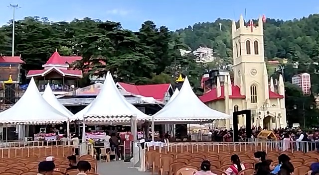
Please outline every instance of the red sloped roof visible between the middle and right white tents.
[{"label": "red sloped roof visible between the middle and right white tents", "polygon": [[160,85],[131,85],[126,83],[119,83],[124,90],[134,93],[137,95],[142,95],[145,97],[153,97],[156,100],[163,100],[165,92],[171,87],[170,84],[160,84]]}]

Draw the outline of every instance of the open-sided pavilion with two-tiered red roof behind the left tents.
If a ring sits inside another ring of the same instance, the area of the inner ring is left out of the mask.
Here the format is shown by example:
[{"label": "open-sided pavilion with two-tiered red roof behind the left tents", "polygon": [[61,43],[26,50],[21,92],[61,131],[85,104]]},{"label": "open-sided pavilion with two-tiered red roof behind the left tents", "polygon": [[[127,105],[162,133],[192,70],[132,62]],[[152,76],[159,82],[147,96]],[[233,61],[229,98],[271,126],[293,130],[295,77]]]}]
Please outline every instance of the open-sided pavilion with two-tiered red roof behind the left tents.
[{"label": "open-sided pavilion with two-tiered red roof behind the left tents", "polygon": [[70,65],[81,60],[78,56],[61,56],[57,50],[51,55],[49,60],[42,65],[42,70],[30,70],[26,78],[33,77],[43,91],[47,83],[51,85],[53,91],[70,91],[78,87],[78,81],[83,77],[82,71],[73,70]]}]

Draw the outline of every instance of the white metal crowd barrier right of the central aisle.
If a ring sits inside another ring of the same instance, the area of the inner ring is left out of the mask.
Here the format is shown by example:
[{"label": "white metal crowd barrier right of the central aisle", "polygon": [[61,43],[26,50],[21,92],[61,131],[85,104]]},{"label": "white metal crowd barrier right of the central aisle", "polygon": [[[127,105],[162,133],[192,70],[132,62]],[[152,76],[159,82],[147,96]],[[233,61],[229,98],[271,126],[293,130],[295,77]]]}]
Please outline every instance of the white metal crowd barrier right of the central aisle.
[{"label": "white metal crowd barrier right of the central aisle", "polygon": [[140,155],[141,166],[139,171],[146,171],[146,152],[156,150],[163,153],[199,153],[199,152],[309,152],[319,150],[319,142],[298,142],[298,141],[274,141],[274,140],[251,140],[249,142],[181,142],[181,143],[148,143]]}]

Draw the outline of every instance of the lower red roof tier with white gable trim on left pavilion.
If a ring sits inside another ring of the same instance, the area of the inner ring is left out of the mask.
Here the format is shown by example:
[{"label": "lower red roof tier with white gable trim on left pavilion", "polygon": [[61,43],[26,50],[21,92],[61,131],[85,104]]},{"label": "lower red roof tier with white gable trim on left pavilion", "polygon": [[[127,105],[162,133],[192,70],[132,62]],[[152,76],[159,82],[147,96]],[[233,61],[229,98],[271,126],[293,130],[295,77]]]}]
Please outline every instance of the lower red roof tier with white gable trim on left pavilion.
[{"label": "lower red roof tier with white gable trim on left pavilion", "polygon": [[26,77],[36,77],[36,76],[42,76],[42,74],[44,73],[43,76],[45,76],[46,74],[55,71],[59,74],[61,74],[61,76],[74,76],[74,77],[81,77],[82,78],[82,71],[79,70],[65,70],[65,69],[58,69],[53,67],[52,70],[47,69],[47,70],[31,70],[28,72],[28,74],[26,75]]}]

